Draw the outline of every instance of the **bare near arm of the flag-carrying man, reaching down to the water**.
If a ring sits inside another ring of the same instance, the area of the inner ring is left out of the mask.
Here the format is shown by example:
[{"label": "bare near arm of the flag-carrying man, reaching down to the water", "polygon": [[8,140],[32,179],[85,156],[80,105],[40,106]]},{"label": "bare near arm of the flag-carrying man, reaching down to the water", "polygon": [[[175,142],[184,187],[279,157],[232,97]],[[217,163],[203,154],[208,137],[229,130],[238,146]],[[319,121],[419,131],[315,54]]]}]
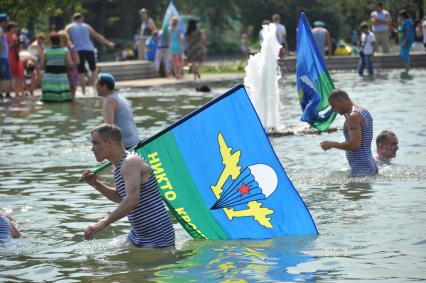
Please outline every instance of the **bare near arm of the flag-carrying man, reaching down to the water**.
[{"label": "bare near arm of the flag-carrying man, reaching down to the water", "polygon": [[117,208],[98,223],[87,227],[84,237],[87,240],[93,239],[93,236],[102,231],[109,224],[127,216],[139,204],[140,185],[145,179],[146,171],[141,159],[136,154],[129,154],[121,167],[121,176],[124,179],[126,197],[121,201]]}]

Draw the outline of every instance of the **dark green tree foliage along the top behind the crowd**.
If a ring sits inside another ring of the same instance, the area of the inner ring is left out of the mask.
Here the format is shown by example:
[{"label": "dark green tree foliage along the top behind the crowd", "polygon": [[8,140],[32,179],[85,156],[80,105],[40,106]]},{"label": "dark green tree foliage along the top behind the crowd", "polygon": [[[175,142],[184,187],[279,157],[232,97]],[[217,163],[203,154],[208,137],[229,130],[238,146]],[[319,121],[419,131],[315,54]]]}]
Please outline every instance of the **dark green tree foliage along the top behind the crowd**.
[{"label": "dark green tree foliage along the top behind the crowd", "polygon": [[[401,8],[407,9],[413,18],[423,17],[423,0],[384,0],[394,22]],[[257,41],[264,19],[272,14],[281,15],[287,29],[291,48],[295,46],[296,28],[301,11],[312,23],[322,20],[334,39],[349,37],[363,20],[369,20],[375,1],[371,0],[174,0],[183,15],[203,19],[203,28],[213,34],[213,40],[239,41],[241,32],[249,32],[252,42]],[[0,12],[23,26],[36,29],[60,29],[70,21],[71,15],[83,12],[86,21],[109,38],[131,40],[140,26],[138,11],[148,9],[150,16],[161,27],[168,1],[158,0],[1,0]],[[235,23],[239,23],[236,25]],[[211,39],[212,37],[210,37]]]}]

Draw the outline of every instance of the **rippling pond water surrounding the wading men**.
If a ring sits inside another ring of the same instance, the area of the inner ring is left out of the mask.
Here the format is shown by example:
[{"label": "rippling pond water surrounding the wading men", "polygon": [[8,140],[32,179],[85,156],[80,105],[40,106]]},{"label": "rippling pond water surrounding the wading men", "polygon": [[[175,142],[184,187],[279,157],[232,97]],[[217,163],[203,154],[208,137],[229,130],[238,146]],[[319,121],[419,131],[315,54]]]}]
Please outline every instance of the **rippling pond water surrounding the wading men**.
[{"label": "rippling pond water surrounding the wading men", "polygon": [[[299,122],[294,75],[280,84],[282,127],[295,134],[271,138],[290,179],[316,221],[320,235],[262,241],[196,242],[177,224],[176,249],[128,247],[122,220],[92,242],[87,225],[114,208],[77,183],[96,164],[90,130],[101,121],[102,100],[43,105],[26,99],[0,103],[0,207],[17,218],[24,238],[0,248],[0,281],[79,282],[403,282],[426,279],[426,70],[378,70],[375,79],[331,73],[355,103],[370,110],[374,135],[392,129],[400,149],[375,178],[349,179],[344,152],[324,152],[322,140]],[[123,89],[141,137],[173,123],[234,84],[193,89]],[[373,146],[375,149],[375,146]],[[111,181],[109,172],[103,179]]]}]

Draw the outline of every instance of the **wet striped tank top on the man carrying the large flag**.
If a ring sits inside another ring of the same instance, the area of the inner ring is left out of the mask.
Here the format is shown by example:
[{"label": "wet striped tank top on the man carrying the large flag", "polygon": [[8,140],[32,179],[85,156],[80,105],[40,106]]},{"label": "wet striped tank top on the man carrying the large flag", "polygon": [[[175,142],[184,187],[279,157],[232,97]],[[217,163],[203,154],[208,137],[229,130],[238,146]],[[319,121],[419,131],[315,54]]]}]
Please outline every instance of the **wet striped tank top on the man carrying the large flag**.
[{"label": "wet striped tank top on the man carrying the large flag", "polygon": [[[121,177],[121,165],[126,156],[127,154],[114,170],[115,184],[121,199],[126,197],[124,180]],[[139,196],[139,204],[127,216],[132,225],[128,240],[136,247],[173,246],[175,232],[152,171],[148,181],[141,184]]]}]

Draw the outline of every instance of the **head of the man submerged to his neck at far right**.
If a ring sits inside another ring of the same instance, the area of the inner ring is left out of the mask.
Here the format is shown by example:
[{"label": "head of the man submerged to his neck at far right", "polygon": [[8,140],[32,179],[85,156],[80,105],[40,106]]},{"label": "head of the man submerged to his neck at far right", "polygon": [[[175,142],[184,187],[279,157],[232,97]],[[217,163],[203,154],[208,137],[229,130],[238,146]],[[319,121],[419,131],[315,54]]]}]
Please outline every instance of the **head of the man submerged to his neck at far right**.
[{"label": "head of the man submerged to his neck at far right", "polygon": [[389,130],[382,131],[376,138],[376,154],[374,160],[378,165],[390,164],[392,158],[396,157],[398,150],[398,138]]}]

